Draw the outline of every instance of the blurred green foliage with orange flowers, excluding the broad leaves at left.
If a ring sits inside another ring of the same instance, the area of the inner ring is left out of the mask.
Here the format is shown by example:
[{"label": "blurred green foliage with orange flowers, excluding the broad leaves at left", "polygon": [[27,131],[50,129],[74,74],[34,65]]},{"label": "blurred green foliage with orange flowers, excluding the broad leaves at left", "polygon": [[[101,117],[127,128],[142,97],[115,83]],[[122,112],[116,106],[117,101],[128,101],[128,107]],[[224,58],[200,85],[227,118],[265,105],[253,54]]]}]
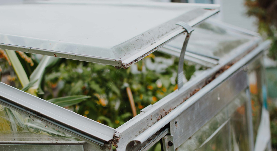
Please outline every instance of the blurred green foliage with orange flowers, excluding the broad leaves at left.
[{"label": "blurred green foliage with orange flowers, excluding the broad leaves at left", "polygon": [[[44,99],[69,95],[92,96],[68,109],[116,128],[132,118],[126,88],[131,88],[139,113],[177,88],[177,66],[178,58],[159,52],[126,70],[64,59],[46,74]],[[184,64],[184,70],[189,79],[195,67]]]}]

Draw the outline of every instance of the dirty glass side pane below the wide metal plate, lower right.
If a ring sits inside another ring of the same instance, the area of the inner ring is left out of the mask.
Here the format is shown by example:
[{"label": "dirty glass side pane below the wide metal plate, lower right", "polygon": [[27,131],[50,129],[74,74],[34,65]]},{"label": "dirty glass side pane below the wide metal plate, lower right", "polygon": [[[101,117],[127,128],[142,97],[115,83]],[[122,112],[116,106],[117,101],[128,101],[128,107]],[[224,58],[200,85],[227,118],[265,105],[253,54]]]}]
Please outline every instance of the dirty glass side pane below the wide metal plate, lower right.
[{"label": "dirty glass side pane below the wide metal plate, lower right", "polygon": [[243,91],[176,150],[249,150],[245,114],[246,100],[247,97]]}]

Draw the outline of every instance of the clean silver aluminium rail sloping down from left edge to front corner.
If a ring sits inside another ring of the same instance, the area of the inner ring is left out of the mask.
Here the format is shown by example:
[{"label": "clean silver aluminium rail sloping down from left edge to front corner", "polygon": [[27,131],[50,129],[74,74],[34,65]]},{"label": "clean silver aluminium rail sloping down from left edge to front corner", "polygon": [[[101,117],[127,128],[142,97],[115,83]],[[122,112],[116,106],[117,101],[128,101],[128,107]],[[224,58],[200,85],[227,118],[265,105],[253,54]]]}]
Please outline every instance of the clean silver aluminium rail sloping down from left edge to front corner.
[{"label": "clean silver aluminium rail sloping down from left edge to front corner", "polygon": [[29,93],[0,82],[0,103],[32,114],[88,141],[104,146],[113,138],[112,127],[106,126]]}]

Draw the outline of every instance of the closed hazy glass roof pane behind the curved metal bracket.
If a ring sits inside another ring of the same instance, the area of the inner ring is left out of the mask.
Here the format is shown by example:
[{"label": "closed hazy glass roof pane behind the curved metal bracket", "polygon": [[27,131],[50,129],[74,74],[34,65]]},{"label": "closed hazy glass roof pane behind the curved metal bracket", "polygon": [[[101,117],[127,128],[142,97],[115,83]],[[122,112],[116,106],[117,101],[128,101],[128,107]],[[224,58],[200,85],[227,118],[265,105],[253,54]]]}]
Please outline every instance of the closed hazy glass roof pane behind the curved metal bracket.
[{"label": "closed hazy glass roof pane behind the curved metal bracket", "polygon": [[[168,43],[168,45],[181,49],[184,39],[185,35],[182,35]],[[187,51],[223,57],[232,49],[248,42],[250,39],[253,39],[253,36],[237,33],[234,30],[230,31],[218,25],[204,22],[196,27],[193,34],[191,34]]]}]

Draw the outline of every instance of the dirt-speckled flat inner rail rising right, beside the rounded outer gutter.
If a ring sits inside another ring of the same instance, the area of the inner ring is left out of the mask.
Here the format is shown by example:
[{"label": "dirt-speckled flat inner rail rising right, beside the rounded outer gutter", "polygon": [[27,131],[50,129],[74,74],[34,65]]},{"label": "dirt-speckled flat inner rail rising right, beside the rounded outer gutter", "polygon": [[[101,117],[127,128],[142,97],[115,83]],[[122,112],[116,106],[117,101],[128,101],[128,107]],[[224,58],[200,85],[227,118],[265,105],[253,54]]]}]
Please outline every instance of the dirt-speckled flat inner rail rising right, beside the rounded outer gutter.
[{"label": "dirt-speckled flat inner rail rising right, beside the rounded outer gutter", "polygon": [[[215,66],[211,70],[203,72],[202,78],[197,78],[189,81],[179,91],[176,90],[155,103],[153,107],[147,112],[140,113],[137,117],[134,117],[133,119],[126,122],[124,125],[118,127],[116,131],[118,132],[117,136],[120,137],[120,140],[117,143],[117,150],[125,150],[126,145],[139,134],[144,132],[144,129],[148,129],[150,126],[152,127],[153,124],[157,122],[159,116],[164,116],[165,112],[170,111],[172,108],[175,108],[180,103],[182,103],[183,98],[188,97],[191,91],[198,88],[199,86],[204,85],[205,81],[208,80],[212,75],[214,75],[218,70],[220,70],[222,66],[225,66],[231,62],[236,61],[238,58],[243,57],[250,50],[252,50],[253,47],[256,47],[257,43],[260,42],[260,40],[260,38],[255,38],[234,49],[234,51],[238,53],[235,53],[235,55],[233,55],[232,57],[225,58],[224,60],[222,60],[224,62]],[[264,48],[268,47],[269,45],[270,41],[266,41],[262,44]],[[261,46],[259,46],[259,48],[260,47]]]}]

